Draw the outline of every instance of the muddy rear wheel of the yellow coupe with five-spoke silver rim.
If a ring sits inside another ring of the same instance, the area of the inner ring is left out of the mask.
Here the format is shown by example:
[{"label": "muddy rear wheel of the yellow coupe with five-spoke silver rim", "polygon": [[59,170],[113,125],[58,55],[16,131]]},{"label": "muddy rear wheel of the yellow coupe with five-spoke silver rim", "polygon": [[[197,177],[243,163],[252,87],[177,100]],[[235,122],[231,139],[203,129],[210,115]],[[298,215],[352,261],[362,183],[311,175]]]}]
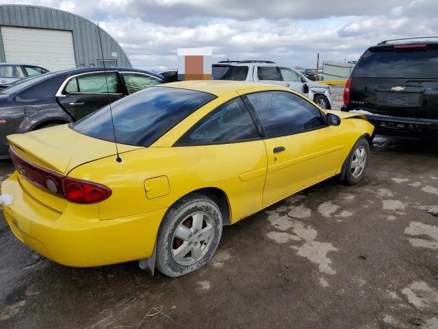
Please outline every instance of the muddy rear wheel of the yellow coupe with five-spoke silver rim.
[{"label": "muddy rear wheel of the yellow coupe with five-spoke silver rim", "polygon": [[191,193],[172,206],[157,235],[155,266],[175,278],[196,271],[211,259],[222,235],[222,214],[209,197]]}]

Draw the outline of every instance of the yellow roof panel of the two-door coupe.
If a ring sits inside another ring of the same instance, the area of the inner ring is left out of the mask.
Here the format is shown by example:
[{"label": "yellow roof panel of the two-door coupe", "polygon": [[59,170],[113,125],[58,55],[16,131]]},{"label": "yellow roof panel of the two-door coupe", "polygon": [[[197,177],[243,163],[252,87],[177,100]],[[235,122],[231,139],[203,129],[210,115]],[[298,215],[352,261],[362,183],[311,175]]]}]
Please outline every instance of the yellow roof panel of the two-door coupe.
[{"label": "yellow roof panel of the two-door coupe", "polygon": [[276,85],[260,84],[257,82],[246,82],[246,81],[230,81],[230,80],[192,80],[192,81],[170,82],[168,84],[160,85],[160,87],[166,87],[166,88],[182,88],[182,89],[202,91],[203,93],[209,93],[216,96],[221,96],[227,93],[231,93],[233,91],[239,91],[239,90],[255,88],[260,86],[266,86],[266,87],[274,86],[274,87],[278,87],[279,89],[290,90],[285,87],[276,86]]}]

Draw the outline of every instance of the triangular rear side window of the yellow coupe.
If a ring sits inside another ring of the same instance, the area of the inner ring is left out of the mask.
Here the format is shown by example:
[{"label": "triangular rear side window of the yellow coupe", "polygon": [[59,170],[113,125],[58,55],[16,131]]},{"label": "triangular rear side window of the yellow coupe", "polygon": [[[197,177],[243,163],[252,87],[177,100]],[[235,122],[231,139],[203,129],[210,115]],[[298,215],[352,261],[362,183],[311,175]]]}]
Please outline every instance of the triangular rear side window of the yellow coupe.
[{"label": "triangular rear side window of the yellow coupe", "polygon": [[184,134],[175,146],[233,143],[258,137],[253,119],[239,98],[208,114]]}]

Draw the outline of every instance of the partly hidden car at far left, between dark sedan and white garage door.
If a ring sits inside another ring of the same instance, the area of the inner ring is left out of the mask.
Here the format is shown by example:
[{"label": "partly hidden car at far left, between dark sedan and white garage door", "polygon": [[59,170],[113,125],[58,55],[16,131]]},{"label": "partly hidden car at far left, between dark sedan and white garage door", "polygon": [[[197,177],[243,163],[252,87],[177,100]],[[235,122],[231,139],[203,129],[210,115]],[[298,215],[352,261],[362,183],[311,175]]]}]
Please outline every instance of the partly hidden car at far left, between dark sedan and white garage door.
[{"label": "partly hidden car at far left, between dark sedan and white garage door", "polygon": [[34,64],[0,63],[0,90],[8,88],[27,77],[47,72],[49,70]]}]

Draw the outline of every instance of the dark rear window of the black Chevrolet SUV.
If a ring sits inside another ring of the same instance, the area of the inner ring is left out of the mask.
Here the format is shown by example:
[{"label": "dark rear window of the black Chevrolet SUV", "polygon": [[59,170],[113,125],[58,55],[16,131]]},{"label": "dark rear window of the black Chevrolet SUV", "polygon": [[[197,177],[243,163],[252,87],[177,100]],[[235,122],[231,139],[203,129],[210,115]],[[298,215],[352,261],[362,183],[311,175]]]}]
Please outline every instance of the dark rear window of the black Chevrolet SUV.
[{"label": "dark rear window of the black Chevrolet SUV", "polygon": [[368,49],[357,63],[353,77],[437,78],[438,49]]}]

